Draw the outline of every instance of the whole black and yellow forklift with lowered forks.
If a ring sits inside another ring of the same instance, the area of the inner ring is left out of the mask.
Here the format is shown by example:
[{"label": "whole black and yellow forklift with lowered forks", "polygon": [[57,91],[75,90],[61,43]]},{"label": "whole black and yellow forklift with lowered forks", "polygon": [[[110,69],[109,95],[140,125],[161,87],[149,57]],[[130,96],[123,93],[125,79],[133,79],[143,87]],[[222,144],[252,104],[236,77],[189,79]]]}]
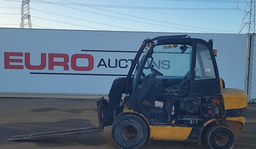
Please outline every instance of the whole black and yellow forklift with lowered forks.
[{"label": "whole black and yellow forklift with lowered forks", "polygon": [[147,139],[206,141],[212,149],[231,149],[245,123],[247,94],[225,88],[216,56],[213,40],[187,35],[145,39],[127,76],[114,80],[109,101],[97,99],[99,127],[18,135],[8,141],[102,133],[113,125],[111,136],[122,149],[138,149]]}]

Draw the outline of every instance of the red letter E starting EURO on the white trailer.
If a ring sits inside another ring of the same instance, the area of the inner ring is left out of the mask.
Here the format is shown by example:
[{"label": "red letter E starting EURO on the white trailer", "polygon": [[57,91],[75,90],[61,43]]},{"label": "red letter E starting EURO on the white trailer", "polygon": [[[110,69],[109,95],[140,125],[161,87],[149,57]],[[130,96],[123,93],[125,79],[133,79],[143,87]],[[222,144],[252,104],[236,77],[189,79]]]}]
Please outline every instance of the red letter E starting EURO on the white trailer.
[{"label": "red letter E starting EURO on the white trailer", "polygon": [[10,56],[23,56],[23,53],[4,52],[4,69],[23,69],[23,65],[10,65],[11,62],[22,63],[22,59],[10,59]]}]

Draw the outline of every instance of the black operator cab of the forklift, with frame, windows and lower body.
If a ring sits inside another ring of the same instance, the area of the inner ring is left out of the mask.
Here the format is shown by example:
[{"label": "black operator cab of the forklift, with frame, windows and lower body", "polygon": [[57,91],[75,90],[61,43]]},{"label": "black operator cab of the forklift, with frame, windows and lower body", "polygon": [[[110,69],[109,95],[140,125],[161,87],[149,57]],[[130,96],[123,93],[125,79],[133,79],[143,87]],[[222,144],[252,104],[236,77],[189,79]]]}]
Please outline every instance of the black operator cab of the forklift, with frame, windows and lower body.
[{"label": "black operator cab of the forklift, with frame, windows and lower body", "polygon": [[[205,111],[213,100],[209,97],[221,95],[212,40],[207,43],[185,36],[154,39],[144,41],[147,44],[138,52],[141,55],[136,55],[137,62],[135,57],[129,98],[143,106],[138,110],[152,123],[168,125],[172,120],[207,117]],[[129,108],[135,109],[136,102]]]}]

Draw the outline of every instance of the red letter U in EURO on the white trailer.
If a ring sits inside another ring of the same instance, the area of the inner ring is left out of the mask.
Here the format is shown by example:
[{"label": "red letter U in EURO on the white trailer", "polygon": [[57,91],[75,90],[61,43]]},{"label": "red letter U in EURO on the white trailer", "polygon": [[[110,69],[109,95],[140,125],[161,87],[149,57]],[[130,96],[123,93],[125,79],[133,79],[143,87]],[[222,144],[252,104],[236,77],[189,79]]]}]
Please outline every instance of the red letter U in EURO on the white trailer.
[{"label": "red letter U in EURO on the white trailer", "polygon": [[41,53],[41,64],[30,64],[30,53],[25,53],[25,67],[30,70],[43,70],[46,67],[46,53]]}]

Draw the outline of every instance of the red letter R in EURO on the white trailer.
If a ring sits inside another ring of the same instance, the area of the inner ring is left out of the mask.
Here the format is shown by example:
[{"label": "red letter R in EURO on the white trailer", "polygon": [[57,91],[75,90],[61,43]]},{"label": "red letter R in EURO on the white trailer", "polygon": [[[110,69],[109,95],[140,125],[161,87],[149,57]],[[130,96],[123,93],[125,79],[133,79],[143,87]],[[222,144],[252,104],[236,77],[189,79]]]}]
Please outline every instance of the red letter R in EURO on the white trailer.
[{"label": "red letter R in EURO on the white trailer", "polygon": [[[54,66],[63,66],[64,70],[69,70],[68,62],[69,62],[69,57],[67,54],[57,54],[57,53],[49,53],[49,64],[48,64],[48,69],[53,70]],[[62,62],[55,62],[54,58],[63,58]]]}]

